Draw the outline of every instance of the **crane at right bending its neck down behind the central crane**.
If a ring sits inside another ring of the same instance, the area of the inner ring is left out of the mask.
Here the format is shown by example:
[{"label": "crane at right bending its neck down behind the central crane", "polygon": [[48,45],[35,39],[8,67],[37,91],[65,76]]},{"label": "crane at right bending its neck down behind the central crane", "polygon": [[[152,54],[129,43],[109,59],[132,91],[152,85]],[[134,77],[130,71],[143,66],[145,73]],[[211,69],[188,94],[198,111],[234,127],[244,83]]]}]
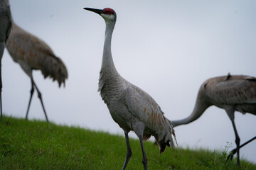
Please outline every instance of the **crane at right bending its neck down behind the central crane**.
[{"label": "crane at right bending its neck down behind the central crane", "polygon": [[256,115],[256,78],[228,74],[228,76],[214,77],[204,81],[198,91],[196,106],[191,115],[182,120],[173,120],[172,125],[176,127],[191,123],[213,105],[225,109],[228,113],[235,131],[235,144],[237,146],[233,154],[237,152],[238,165],[240,165],[240,137],[238,136],[238,130],[235,128],[234,113],[238,111],[243,114],[252,113]]}]

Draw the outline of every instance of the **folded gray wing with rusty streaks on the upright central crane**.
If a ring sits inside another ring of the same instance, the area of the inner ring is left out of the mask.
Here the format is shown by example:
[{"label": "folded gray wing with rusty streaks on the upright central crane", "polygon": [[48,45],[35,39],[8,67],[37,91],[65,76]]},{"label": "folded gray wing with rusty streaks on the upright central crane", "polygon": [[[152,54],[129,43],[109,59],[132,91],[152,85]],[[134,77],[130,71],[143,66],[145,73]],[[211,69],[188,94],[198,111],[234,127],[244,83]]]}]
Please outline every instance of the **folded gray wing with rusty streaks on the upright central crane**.
[{"label": "folded gray wing with rusty streaks on the upright central crane", "polygon": [[171,121],[164,116],[160,106],[149,94],[139,89],[137,86],[130,86],[126,89],[125,103],[130,113],[142,121],[146,128],[156,132],[158,140],[171,142],[174,146],[172,135],[174,130],[171,127]]}]

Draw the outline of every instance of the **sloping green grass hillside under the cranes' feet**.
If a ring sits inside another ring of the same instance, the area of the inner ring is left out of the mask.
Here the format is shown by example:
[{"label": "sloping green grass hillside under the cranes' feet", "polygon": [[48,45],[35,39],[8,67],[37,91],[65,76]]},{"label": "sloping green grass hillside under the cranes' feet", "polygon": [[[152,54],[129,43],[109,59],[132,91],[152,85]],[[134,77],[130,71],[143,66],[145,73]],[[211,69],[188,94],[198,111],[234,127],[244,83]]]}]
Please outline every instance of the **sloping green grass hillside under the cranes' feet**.
[{"label": "sloping green grass hillside under the cranes' feet", "polygon": [[[130,139],[132,157],[127,169],[143,169],[139,140]],[[159,154],[153,142],[144,142],[148,169],[256,169],[225,162],[219,152],[166,148]],[[127,147],[123,136],[38,120],[5,117],[0,123],[0,169],[122,169]]]}]

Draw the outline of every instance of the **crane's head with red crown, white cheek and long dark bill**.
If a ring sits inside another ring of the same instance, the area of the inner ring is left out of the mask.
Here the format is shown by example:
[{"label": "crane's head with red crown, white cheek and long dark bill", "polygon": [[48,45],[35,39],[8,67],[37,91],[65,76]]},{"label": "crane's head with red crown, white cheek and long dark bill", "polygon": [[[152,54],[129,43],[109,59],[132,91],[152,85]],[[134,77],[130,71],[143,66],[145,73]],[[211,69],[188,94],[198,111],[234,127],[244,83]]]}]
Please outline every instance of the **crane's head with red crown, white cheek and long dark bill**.
[{"label": "crane's head with red crown, white cheek and long dark bill", "polygon": [[117,14],[114,12],[112,8],[104,8],[104,9],[84,8],[84,9],[99,14],[108,23],[115,22],[117,18]]}]

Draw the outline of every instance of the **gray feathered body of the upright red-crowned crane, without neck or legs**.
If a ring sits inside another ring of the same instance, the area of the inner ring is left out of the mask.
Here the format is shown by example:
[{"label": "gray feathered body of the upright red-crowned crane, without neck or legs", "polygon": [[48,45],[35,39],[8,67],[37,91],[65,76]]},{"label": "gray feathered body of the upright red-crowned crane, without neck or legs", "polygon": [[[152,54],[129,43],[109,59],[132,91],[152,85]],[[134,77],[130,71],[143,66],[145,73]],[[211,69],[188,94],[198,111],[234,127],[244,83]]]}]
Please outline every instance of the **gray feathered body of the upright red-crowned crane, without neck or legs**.
[{"label": "gray feathered body of the upright red-crowned crane, without neck or legs", "polygon": [[[113,77],[111,77],[113,76]],[[125,132],[144,125],[143,140],[153,135],[159,142],[161,152],[174,146],[174,130],[159,105],[149,94],[125,80],[118,74],[100,74],[99,91],[113,120]]]}]

